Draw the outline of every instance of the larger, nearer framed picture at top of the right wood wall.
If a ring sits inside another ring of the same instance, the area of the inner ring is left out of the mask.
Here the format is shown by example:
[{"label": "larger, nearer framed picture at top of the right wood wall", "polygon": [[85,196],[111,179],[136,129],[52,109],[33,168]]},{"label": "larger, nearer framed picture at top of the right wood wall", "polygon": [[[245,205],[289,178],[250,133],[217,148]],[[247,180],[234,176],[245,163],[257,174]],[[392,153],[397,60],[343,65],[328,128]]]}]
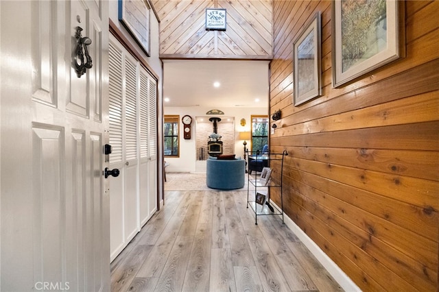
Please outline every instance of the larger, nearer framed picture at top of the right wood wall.
[{"label": "larger, nearer framed picture at top of the right wood wall", "polygon": [[400,58],[399,2],[333,2],[333,87]]}]

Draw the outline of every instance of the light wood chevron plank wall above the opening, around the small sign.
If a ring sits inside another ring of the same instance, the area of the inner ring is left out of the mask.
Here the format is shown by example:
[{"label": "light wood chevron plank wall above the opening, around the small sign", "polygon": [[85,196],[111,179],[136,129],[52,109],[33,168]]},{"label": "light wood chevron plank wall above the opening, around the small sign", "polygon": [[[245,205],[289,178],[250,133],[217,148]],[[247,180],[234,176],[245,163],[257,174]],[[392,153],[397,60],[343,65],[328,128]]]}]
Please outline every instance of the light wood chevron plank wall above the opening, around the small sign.
[{"label": "light wood chevron plank wall above the opening, around the small sign", "polygon": [[[152,0],[161,58],[272,58],[271,0]],[[225,32],[206,31],[206,8],[226,8]]]}]

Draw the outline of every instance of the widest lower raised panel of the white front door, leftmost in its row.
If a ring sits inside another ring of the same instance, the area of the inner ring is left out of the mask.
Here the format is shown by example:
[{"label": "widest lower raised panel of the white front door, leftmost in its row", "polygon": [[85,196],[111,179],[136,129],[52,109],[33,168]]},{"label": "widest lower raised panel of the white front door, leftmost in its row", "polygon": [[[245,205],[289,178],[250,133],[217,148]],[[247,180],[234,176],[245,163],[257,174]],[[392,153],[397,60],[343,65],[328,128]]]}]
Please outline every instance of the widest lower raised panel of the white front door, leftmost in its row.
[{"label": "widest lower raised panel of the white front door, leftmost in its row", "polygon": [[[65,217],[64,131],[62,127],[33,123],[33,243],[36,280],[62,279],[62,243]],[[40,269],[44,267],[44,269]]]}]

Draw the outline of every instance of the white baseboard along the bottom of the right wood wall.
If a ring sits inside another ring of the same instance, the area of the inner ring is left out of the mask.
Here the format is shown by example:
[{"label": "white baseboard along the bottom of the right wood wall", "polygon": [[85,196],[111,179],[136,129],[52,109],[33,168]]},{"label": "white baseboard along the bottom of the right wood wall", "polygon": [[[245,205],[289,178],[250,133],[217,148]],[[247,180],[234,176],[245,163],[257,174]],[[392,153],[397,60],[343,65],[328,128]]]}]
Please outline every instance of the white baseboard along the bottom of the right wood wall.
[{"label": "white baseboard along the bottom of the right wood wall", "polygon": [[[274,204],[274,202],[270,202],[270,204]],[[276,204],[274,204],[276,206]],[[278,208],[278,206],[276,206]],[[280,209],[280,208],[279,208]],[[361,291],[359,287],[349,278],[337,264],[334,263],[327,254],[323,252],[323,250],[314,242],[309,236],[297,226],[294,221],[289,218],[287,215],[283,215],[283,219],[285,221],[285,225],[296,234],[296,236],[302,241],[302,243],[307,247],[309,252],[313,254],[317,258],[320,264],[327,269],[327,271],[331,274],[331,276],[337,281],[337,283],[344,289],[344,291],[352,291],[357,292]]]}]

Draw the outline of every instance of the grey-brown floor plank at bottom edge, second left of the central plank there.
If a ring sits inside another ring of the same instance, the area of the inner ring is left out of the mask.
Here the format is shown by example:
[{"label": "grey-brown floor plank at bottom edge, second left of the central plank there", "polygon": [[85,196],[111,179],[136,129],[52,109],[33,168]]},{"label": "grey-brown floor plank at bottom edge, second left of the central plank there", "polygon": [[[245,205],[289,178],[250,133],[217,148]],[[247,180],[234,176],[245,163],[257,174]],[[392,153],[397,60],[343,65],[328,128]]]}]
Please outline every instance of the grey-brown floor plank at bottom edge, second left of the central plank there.
[{"label": "grey-brown floor plank at bottom edge, second left of the central plank there", "polygon": [[166,265],[156,286],[156,291],[181,291],[185,281],[193,236],[177,236]]}]

